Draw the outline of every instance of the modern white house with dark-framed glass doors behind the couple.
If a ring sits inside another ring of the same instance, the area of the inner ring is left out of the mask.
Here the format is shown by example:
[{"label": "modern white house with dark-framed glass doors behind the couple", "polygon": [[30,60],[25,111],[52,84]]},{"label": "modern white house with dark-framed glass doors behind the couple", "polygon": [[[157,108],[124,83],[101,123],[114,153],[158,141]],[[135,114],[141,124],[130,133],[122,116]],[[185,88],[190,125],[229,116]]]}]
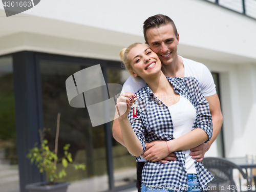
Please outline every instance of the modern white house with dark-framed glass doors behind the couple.
[{"label": "modern white house with dark-framed glass doors behind the couple", "polygon": [[[119,51],[144,42],[146,18],[165,14],[180,34],[178,54],[204,63],[221,101],[223,127],[205,156],[256,155],[256,1],[50,1],[6,17],[0,5],[0,188],[25,192],[44,181],[26,158],[38,130],[59,153],[70,152],[86,170],[73,173],[69,192],[118,191],[135,186],[136,162],[112,137],[112,123],[92,127],[86,108],[72,108],[66,79],[100,64],[106,83],[122,84]],[[256,156],[255,156],[256,158]],[[1,172],[5,172],[1,174]]]}]

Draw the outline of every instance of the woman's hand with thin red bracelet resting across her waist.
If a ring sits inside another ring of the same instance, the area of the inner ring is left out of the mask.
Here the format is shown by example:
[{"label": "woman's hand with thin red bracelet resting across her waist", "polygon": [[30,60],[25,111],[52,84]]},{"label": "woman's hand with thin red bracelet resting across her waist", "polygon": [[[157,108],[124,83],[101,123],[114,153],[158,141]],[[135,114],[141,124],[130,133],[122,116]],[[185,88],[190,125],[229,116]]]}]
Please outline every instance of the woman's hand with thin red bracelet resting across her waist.
[{"label": "woman's hand with thin red bracelet resting across her waist", "polygon": [[169,155],[166,141],[153,141],[146,145],[143,157],[152,162],[160,161]]}]

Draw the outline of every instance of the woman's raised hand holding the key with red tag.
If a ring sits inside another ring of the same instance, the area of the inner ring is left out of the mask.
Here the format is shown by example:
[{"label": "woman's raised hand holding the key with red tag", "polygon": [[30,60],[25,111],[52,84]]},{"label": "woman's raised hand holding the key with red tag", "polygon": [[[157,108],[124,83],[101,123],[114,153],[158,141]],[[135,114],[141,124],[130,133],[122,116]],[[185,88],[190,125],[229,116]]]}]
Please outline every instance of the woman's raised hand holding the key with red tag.
[{"label": "woman's raised hand holding the key with red tag", "polygon": [[120,119],[124,119],[127,117],[128,113],[131,111],[131,106],[134,101],[137,100],[137,96],[134,93],[126,92],[122,93],[116,103],[116,110]]}]

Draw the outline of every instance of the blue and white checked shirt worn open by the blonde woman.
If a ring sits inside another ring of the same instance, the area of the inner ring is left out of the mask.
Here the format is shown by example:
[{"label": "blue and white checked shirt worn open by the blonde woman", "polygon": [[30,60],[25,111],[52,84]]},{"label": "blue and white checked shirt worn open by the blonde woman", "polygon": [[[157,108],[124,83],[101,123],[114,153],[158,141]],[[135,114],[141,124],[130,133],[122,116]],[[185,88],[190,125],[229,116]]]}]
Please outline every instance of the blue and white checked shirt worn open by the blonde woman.
[{"label": "blue and white checked shirt worn open by the blonde woman", "polygon": [[[207,141],[209,141],[212,136],[209,104],[201,92],[198,81],[194,77],[166,78],[173,85],[176,93],[188,99],[195,106],[197,117],[193,123],[192,130],[196,128],[203,129],[207,133]],[[174,139],[173,121],[168,107],[154,95],[147,84],[136,95],[138,98],[138,116],[133,117],[133,110],[131,110],[128,117],[134,132],[141,142],[143,151],[145,150],[146,142]],[[175,152],[175,154],[177,160],[169,161],[165,164],[146,161],[142,172],[142,183],[150,187],[169,186],[175,192],[186,191],[185,188],[182,188],[187,185],[185,155],[182,151]],[[140,157],[136,159],[139,160]],[[201,162],[195,160],[195,166],[201,190],[207,191],[207,183],[214,177]]]}]

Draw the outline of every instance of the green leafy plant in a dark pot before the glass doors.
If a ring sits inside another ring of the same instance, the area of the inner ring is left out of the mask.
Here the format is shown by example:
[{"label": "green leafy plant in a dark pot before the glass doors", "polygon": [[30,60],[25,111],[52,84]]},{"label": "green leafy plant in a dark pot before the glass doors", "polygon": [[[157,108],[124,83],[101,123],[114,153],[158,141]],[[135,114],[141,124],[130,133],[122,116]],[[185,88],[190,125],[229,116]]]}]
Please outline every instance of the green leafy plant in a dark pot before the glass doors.
[{"label": "green leafy plant in a dark pot before the glass doors", "polygon": [[[60,113],[58,113],[57,116],[57,129],[56,129],[56,137],[55,137],[55,148],[54,151],[49,150],[48,140],[44,139],[44,132],[39,130],[40,134],[40,146],[37,147],[37,143],[35,143],[35,146],[29,150],[29,153],[27,154],[27,158],[31,160],[31,164],[35,163],[37,165],[40,173],[47,173],[48,182],[38,182],[38,183],[32,183],[27,184],[26,189],[28,189],[30,192],[50,192],[50,191],[56,191],[56,192],[66,192],[69,182],[56,182],[56,179],[65,177],[67,175],[66,173],[66,167],[69,165],[69,162],[72,163],[72,155],[68,152],[70,144],[66,144],[63,147],[64,150],[64,156],[61,158],[58,158],[57,152],[58,152],[58,136],[59,136],[59,119],[60,119]],[[56,173],[57,170],[57,162],[62,163],[63,168]],[[86,165],[84,164],[73,164],[75,169],[82,169],[84,170]]]}]

